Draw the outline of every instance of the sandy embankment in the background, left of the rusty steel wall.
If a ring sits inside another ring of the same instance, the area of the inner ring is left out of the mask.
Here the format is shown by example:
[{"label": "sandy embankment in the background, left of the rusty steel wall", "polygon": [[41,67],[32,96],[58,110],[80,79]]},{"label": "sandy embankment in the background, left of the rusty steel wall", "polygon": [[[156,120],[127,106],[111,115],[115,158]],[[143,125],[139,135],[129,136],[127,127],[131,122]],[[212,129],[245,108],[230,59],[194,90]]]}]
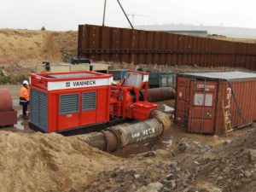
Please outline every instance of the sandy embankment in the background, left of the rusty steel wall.
[{"label": "sandy embankment in the background, left of the rusty steel wall", "polygon": [[35,67],[42,61],[62,62],[63,51],[76,54],[78,32],[0,30],[0,64]]}]

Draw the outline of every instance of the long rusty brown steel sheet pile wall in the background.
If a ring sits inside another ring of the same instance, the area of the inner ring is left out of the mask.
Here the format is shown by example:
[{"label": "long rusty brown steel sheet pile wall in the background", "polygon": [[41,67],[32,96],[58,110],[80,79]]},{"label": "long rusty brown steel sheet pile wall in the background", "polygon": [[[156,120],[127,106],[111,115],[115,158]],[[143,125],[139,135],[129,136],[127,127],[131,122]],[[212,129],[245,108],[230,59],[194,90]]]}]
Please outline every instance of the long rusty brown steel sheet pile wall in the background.
[{"label": "long rusty brown steel sheet pile wall in the background", "polygon": [[256,69],[256,44],[108,26],[80,25],[78,55],[93,61]]}]

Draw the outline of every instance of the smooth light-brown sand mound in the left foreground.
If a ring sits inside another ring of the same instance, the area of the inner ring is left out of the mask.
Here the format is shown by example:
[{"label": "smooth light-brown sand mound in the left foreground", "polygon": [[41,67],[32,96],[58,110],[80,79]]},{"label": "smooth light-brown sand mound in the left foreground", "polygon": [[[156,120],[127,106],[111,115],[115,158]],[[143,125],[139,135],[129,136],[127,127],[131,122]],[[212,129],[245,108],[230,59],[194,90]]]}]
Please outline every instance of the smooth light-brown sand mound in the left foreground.
[{"label": "smooth light-brown sand mound in the left foreground", "polygon": [[81,191],[119,159],[59,134],[0,132],[0,191]]}]

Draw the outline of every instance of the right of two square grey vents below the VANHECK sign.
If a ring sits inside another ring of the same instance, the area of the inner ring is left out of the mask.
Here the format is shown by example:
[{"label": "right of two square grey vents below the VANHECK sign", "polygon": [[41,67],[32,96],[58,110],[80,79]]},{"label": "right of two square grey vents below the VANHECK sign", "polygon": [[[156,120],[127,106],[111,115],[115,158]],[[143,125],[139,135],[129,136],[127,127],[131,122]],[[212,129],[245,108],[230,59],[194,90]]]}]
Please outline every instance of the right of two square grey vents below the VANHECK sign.
[{"label": "right of two square grey vents below the VANHECK sign", "polygon": [[96,109],[96,91],[83,93],[83,111]]}]

